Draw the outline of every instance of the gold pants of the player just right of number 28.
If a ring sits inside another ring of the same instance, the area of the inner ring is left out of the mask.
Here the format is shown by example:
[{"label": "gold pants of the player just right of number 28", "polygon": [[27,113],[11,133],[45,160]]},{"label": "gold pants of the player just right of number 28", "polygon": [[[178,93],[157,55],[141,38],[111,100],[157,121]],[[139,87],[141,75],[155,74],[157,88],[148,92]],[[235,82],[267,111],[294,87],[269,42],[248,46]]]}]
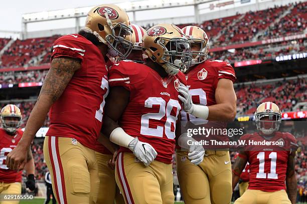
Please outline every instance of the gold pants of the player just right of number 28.
[{"label": "gold pants of the player just right of number 28", "polygon": [[232,196],[229,151],[206,150],[206,154],[195,165],[187,151],[177,150],[177,175],[185,203],[228,204]]}]

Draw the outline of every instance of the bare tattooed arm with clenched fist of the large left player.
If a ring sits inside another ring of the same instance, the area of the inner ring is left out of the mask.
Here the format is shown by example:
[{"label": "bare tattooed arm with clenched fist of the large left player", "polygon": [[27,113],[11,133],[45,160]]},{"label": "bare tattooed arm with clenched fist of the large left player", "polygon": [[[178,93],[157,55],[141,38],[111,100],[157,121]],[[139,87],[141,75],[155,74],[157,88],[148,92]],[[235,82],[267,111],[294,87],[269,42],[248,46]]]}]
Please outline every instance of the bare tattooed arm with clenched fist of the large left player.
[{"label": "bare tattooed arm with clenched fist of the large left player", "polygon": [[76,70],[81,67],[81,60],[71,57],[54,58],[46,75],[40,95],[28,119],[24,135],[17,147],[8,154],[7,166],[22,169],[27,162],[27,150],[44,124],[51,105],[61,96]]}]

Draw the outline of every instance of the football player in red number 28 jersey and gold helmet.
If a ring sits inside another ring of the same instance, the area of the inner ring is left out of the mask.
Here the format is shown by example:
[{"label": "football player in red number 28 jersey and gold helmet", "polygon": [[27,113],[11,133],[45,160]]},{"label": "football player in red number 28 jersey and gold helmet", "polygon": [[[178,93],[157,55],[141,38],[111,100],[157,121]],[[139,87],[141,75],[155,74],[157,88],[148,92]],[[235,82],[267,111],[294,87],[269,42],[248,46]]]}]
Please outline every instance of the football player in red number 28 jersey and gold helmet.
[{"label": "football player in red number 28 jersey and gold helmet", "polygon": [[[174,203],[172,154],[182,104],[180,71],[191,61],[190,42],[173,24],[147,30],[145,64],[122,60],[109,72],[102,130],[120,145],[115,178],[126,203]],[[118,123],[117,123],[118,122]]]}]

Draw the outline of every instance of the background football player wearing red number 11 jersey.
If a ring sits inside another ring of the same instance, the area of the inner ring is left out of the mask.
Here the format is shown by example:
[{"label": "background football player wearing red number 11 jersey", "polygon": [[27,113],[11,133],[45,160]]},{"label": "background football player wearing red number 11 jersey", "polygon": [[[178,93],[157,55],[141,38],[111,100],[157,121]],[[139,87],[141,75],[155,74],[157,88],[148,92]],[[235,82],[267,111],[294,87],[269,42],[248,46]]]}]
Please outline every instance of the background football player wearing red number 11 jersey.
[{"label": "background football player wearing red number 11 jersey", "polygon": [[[298,145],[292,134],[278,131],[280,121],[279,107],[273,102],[263,102],[255,112],[258,131],[240,138],[246,144],[239,146],[239,155],[232,170],[232,186],[237,184],[247,162],[249,184],[235,204],[296,203],[294,157]],[[280,141],[282,144],[249,145],[250,140]]]}]

